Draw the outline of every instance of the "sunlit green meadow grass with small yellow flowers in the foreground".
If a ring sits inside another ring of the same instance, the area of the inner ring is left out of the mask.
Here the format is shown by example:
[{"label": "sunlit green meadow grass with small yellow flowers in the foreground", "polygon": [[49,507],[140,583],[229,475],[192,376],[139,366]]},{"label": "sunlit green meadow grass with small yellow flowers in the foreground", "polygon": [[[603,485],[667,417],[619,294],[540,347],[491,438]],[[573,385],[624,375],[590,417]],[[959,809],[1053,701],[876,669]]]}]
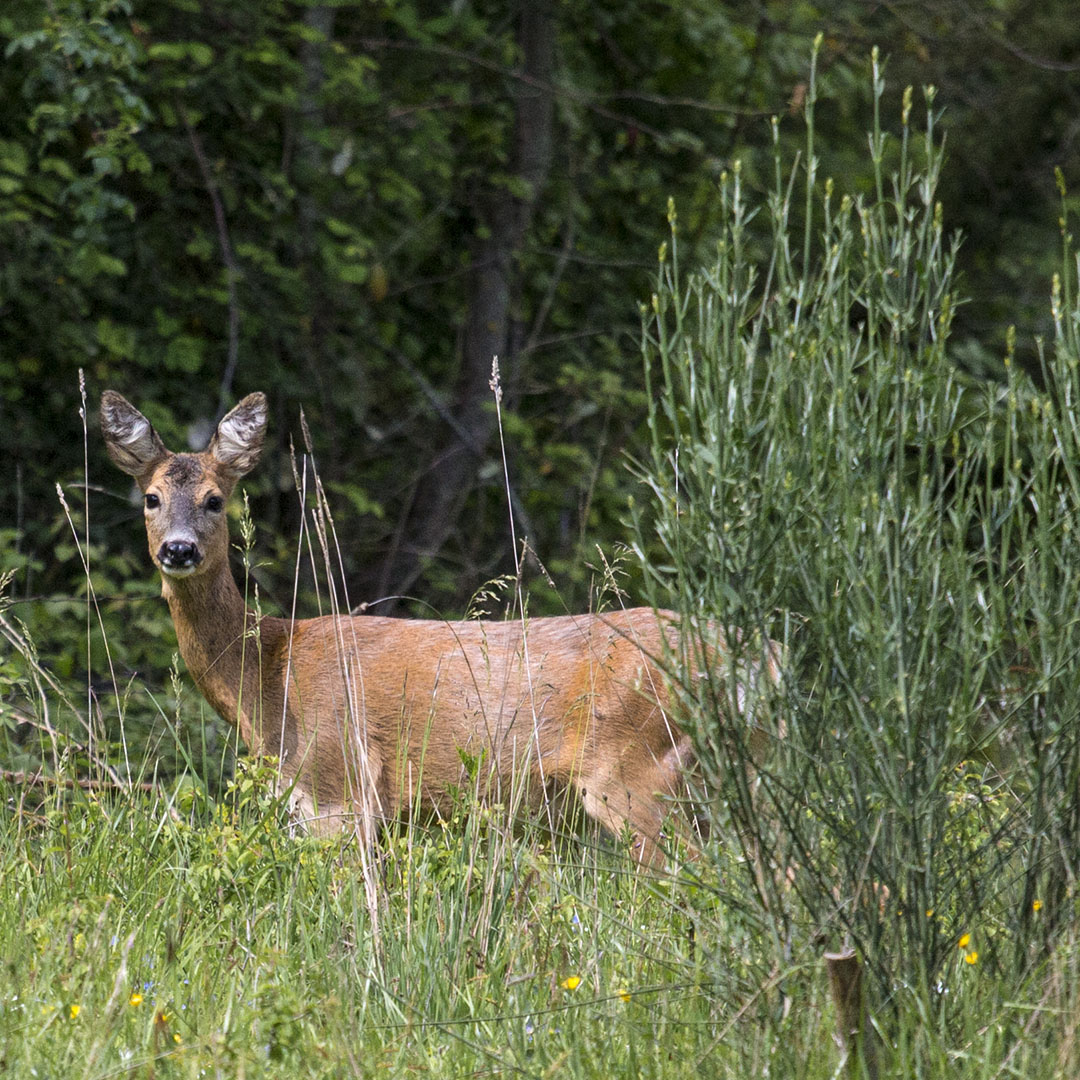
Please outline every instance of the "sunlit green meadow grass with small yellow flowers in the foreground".
[{"label": "sunlit green meadow grass with small yellow flowers in the foreground", "polygon": [[[836,1075],[820,969],[733,984],[758,946],[723,878],[650,880],[583,846],[555,860],[468,801],[384,837],[375,867],[284,829],[272,775],[221,804],[58,792],[0,819],[9,1071]],[[1008,990],[964,959],[978,937],[950,943],[947,1021],[897,988],[895,1075],[1070,1075],[1071,930],[1044,985]]]}]

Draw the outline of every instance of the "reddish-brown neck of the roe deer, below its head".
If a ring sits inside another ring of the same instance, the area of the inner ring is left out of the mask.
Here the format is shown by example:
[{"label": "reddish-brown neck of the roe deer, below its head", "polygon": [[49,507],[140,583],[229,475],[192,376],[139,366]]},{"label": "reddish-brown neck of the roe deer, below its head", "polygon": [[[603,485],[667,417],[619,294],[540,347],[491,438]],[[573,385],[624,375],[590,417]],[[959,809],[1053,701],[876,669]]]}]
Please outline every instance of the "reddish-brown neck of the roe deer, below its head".
[{"label": "reddish-brown neck of the roe deer, below its head", "polygon": [[190,578],[162,576],[161,591],[180,656],[200,692],[258,753],[261,714],[272,707],[262,672],[272,670],[280,620],[260,619],[247,609],[227,564]]}]

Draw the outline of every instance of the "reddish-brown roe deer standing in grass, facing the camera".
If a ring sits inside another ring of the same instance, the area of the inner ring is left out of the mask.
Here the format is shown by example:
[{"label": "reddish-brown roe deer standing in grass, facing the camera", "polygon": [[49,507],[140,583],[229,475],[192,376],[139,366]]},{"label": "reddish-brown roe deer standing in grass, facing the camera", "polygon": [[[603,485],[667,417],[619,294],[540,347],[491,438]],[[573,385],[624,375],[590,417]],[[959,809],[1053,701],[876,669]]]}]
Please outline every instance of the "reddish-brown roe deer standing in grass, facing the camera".
[{"label": "reddish-brown roe deer standing in grass, facing the camera", "polygon": [[[279,757],[308,826],[351,825],[370,843],[379,820],[448,805],[472,759],[486,797],[523,791],[537,808],[577,792],[606,829],[630,831],[640,863],[662,861],[670,798],[693,766],[660,666],[677,647],[677,617],[635,608],[524,626],[259,617],[229,569],[225,504],[258,460],[266,422],[266,397],[249,394],[203,453],[173,454],[120,394],[102,395],[109,457],[143,491],[184,662],[252,752]],[[713,634],[710,666],[724,677],[735,665]],[[766,642],[759,660],[740,661],[733,712],[751,711],[760,676],[777,681],[778,658]]]}]

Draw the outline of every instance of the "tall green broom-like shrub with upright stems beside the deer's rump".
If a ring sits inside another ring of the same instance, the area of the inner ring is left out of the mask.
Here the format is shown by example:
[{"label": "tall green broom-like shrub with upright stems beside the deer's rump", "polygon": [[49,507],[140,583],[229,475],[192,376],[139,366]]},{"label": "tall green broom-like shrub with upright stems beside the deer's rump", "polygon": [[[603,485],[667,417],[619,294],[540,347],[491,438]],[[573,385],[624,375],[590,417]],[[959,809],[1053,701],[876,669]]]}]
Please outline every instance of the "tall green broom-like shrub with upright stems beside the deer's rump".
[{"label": "tall green broom-like shrub with upright stems beside the deer's rump", "polygon": [[[635,532],[654,600],[731,646],[683,692],[715,835],[743,856],[729,880],[760,931],[752,978],[853,944],[882,996],[949,1015],[961,934],[1022,980],[1076,914],[1080,313],[1067,242],[1041,386],[1012,336],[1003,386],[960,373],[926,96],[924,133],[908,91],[899,139],[872,132],[872,190],[841,195],[818,174],[811,82],[802,164],[778,152],[765,205],[726,175],[716,257],[685,278],[672,210]],[[784,685],[747,708],[785,733],[757,769],[725,717],[764,636],[783,643]]]}]

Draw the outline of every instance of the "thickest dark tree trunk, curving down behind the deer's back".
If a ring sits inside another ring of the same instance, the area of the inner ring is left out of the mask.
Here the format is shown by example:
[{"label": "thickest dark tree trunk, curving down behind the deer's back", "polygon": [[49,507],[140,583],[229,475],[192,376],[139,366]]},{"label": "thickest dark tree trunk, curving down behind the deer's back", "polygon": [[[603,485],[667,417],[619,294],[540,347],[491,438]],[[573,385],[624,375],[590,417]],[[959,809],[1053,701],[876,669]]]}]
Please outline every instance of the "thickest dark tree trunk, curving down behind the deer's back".
[{"label": "thickest dark tree trunk, curving down behind the deer's back", "polygon": [[454,400],[457,423],[453,431],[447,430],[418,481],[400,531],[401,541],[383,568],[382,595],[408,594],[423,573],[424,562],[438,553],[458,525],[495,430],[489,387],[492,359],[498,356],[508,374],[516,360],[508,347],[514,300],[521,292],[522,246],[551,167],[553,8],[553,0],[518,2],[522,67],[514,95],[511,161],[515,177],[523,181],[523,193],[492,186],[477,207],[487,235],[473,248],[461,368]]}]

